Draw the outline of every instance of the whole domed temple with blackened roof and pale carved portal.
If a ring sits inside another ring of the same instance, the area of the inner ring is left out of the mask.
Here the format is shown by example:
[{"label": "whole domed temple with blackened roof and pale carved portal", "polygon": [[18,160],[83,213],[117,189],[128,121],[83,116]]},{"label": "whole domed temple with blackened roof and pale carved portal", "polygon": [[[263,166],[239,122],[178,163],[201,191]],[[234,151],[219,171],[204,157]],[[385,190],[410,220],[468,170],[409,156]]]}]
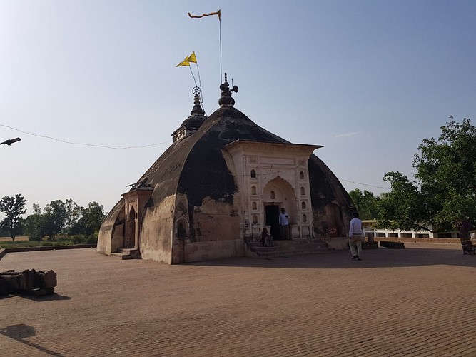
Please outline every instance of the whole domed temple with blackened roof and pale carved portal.
[{"label": "whole domed temple with blackened roof and pale carved portal", "polygon": [[175,264],[252,255],[248,242],[267,227],[279,239],[278,215],[293,239],[345,236],[353,203],[313,154],[234,107],[228,83],[205,116],[198,95],[173,144],[123,193],[106,217],[98,252]]}]

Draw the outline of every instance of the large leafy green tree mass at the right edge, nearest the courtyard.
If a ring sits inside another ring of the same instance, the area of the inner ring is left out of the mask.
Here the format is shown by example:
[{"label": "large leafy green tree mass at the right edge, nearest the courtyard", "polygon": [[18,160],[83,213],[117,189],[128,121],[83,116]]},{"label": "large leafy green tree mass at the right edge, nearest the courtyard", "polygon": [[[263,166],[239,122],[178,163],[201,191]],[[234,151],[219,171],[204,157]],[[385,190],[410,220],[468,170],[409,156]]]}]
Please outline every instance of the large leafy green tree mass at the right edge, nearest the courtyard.
[{"label": "large leafy green tree mass at the right edge, nearest the courtyard", "polygon": [[399,172],[384,176],[392,191],[380,200],[380,220],[399,228],[432,224],[450,231],[458,219],[476,223],[476,127],[449,121],[439,139],[424,139],[412,166],[416,181]]}]

